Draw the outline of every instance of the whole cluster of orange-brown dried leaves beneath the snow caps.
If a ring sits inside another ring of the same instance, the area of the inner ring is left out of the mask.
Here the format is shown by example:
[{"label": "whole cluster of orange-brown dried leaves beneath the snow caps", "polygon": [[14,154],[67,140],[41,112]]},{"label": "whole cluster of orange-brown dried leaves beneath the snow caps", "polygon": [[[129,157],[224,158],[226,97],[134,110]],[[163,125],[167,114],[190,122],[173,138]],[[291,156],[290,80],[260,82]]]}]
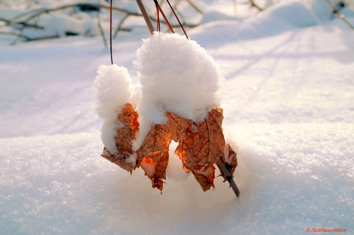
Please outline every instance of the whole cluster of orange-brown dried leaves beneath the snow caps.
[{"label": "whole cluster of orange-brown dried leaves beneath the snow caps", "polygon": [[[141,147],[132,151],[132,141],[139,132],[138,113],[131,104],[126,104],[117,115],[117,121],[124,124],[117,130],[116,150],[118,154],[112,155],[104,148],[101,156],[120,166],[124,170],[132,172],[142,166],[151,181],[153,188],[162,191],[162,179],[166,179],[166,167],[169,161],[169,145],[171,141],[178,142],[175,154],[183,163],[183,169],[189,173],[192,171],[195,179],[204,191],[214,187],[216,164],[224,175],[220,164],[224,163],[231,175],[237,166],[236,153],[230,147],[225,154],[225,139],[222,133],[223,109],[213,109],[208,113],[204,121],[196,123],[191,119],[185,119],[174,113],[166,113],[167,123],[156,124],[151,127]],[[192,127],[193,126],[193,127]],[[135,162],[129,159],[136,157]],[[151,170],[153,169],[153,170]]]}]

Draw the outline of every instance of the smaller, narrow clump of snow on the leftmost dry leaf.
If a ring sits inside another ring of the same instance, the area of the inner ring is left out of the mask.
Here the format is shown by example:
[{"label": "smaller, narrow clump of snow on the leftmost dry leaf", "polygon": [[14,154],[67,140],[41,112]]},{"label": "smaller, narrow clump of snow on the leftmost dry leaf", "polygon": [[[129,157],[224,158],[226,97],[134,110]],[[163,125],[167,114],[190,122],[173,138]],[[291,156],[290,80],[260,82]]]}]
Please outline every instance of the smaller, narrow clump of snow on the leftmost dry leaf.
[{"label": "smaller, narrow clump of snow on the leftmost dry leaf", "polygon": [[116,137],[118,128],[124,126],[116,119],[116,112],[126,103],[135,103],[135,88],[125,67],[113,65],[100,65],[98,75],[93,82],[96,92],[96,103],[93,106],[98,117],[104,119],[101,129],[101,139],[111,154],[116,154]]}]

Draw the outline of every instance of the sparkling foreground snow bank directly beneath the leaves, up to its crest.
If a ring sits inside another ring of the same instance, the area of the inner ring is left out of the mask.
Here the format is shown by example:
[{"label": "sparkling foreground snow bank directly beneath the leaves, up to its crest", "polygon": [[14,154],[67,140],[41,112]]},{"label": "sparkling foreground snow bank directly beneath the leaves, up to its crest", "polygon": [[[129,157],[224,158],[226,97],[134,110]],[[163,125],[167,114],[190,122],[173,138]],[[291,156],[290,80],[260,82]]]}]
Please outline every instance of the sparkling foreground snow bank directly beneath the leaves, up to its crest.
[{"label": "sparkling foreground snow bank directly beneath the leaves, up to its crest", "polygon": [[[225,126],[236,200],[203,192],[171,148],[162,195],[99,154],[97,133],[0,139],[0,231],[13,234],[305,234],[354,229],[354,125]],[[218,170],[216,175],[219,174]],[[286,232],[285,232],[286,231]]]}]

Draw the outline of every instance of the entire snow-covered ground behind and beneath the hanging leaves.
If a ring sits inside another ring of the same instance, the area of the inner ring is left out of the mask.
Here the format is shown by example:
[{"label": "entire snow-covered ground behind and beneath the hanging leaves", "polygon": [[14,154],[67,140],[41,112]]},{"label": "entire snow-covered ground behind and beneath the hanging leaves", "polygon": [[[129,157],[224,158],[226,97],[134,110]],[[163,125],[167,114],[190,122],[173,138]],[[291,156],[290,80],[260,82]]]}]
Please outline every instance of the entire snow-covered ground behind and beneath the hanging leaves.
[{"label": "entire snow-covered ground behind and beneath the hanging leaves", "polygon": [[[92,84],[110,64],[101,38],[9,46],[1,37],[0,234],[354,234],[354,31],[330,12],[295,1],[187,31],[226,78],[239,200],[221,177],[203,192],[177,144],[162,195],[141,169],[130,176],[99,156]],[[113,41],[113,61],[133,81],[148,36]]]}]

